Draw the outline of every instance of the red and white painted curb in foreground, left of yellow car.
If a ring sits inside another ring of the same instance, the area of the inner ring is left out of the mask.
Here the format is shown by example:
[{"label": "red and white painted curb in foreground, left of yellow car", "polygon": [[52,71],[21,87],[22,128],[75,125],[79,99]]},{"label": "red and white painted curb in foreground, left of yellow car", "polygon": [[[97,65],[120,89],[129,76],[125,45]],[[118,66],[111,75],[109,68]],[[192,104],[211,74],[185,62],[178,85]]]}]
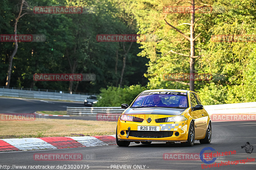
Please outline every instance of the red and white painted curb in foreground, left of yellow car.
[{"label": "red and white painted curb in foreground, left of yellow car", "polygon": [[79,148],[116,144],[116,135],[0,139],[0,151]]}]

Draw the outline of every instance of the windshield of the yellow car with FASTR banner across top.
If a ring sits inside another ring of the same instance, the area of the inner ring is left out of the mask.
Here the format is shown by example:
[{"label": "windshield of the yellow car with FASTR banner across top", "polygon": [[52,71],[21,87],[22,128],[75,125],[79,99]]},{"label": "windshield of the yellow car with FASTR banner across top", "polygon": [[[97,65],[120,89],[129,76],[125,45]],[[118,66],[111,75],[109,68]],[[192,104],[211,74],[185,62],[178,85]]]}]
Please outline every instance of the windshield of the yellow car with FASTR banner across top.
[{"label": "windshield of the yellow car with FASTR banner across top", "polygon": [[187,93],[184,92],[143,92],[133,102],[138,107],[177,107],[187,108]]}]

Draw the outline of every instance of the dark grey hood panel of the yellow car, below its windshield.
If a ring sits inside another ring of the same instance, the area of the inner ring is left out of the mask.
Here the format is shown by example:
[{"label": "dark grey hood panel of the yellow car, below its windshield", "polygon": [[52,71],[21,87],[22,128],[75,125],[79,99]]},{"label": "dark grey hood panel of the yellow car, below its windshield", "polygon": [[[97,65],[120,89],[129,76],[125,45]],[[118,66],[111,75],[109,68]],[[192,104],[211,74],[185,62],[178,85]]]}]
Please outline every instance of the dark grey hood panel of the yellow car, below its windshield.
[{"label": "dark grey hood panel of the yellow car, below its windshield", "polygon": [[156,108],[156,107],[149,107],[149,108],[128,108],[125,110],[125,115],[137,115],[137,114],[151,114],[151,115],[174,115],[178,116],[181,115],[185,109],[176,109],[176,108]]}]

